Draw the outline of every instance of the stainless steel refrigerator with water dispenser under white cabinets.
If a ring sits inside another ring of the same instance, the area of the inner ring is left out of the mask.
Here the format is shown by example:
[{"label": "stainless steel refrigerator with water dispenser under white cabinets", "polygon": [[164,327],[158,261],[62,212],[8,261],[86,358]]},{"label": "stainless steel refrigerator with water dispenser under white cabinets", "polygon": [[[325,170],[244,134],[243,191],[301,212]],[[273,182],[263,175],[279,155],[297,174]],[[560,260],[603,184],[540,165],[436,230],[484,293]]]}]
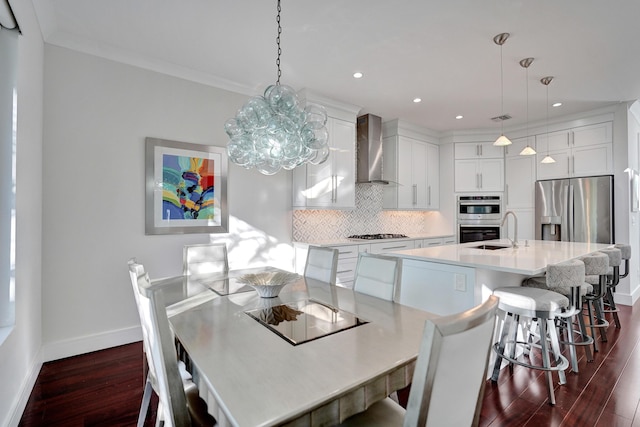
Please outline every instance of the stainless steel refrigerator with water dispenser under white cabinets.
[{"label": "stainless steel refrigerator with water dispenser under white cabinets", "polygon": [[613,243],[613,176],[536,182],[536,239]]}]

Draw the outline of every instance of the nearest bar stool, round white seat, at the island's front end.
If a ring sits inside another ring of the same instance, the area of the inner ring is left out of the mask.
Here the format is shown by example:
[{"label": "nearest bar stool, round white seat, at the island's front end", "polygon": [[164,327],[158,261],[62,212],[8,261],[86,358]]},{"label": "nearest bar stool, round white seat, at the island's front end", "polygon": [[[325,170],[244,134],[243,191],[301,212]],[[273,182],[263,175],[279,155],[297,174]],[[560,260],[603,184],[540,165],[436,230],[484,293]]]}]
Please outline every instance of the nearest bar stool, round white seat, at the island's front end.
[{"label": "nearest bar stool, round white seat, at the island's front end", "polygon": [[[547,391],[549,393],[549,403],[555,405],[556,398],[553,391],[553,371],[558,372],[560,384],[566,382],[564,370],[569,366],[566,357],[560,354],[560,343],[555,328],[555,318],[569,307],[569,299],[564,295],[547,289],[538,289],[530,287],[502,287],[494,289],[493,294],[500,301],[498,310],[504,314],[502,320],[500,340],[494,344],[493,350],[497,357],[493,367],[491,381],[497,382],[500,374],[500,366],[502,359],[509,362],[509,368],[513,369],[513,364],[521,365],[527,368],[540,369],[545,371]],[[519,341],[517,339],[518,326],[522,325],[522,330],[526,331],[527,327],[521,324],[520,317],[523,321],[537,320],[539,328],[539,344],[533,342],[533,332],[529,332],[526,340]],[[510,336],[510,337],[509,337]],[[551,364],[549,358],[549,343],[551,344],[551,353],[553,354],[554,365]],[[510,351],[506,352],[507,345]],[[516,358],[516,347],[524,349],[525,355],[529,354],[533,348],[540,348],[542,355],[542,365],[534,365]]]}]

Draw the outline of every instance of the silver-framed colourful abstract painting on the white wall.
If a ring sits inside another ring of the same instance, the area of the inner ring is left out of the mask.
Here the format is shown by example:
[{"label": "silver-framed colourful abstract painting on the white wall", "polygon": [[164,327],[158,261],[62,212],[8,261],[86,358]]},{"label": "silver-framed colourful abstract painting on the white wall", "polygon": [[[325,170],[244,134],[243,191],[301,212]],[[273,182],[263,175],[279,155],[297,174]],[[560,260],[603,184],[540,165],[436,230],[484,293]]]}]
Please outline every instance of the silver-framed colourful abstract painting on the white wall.
[{"label": "silver-framed colourful abstract painting on the white wall", "polygon": [[227,151],[145,139],[145,234],[228,233]]}]

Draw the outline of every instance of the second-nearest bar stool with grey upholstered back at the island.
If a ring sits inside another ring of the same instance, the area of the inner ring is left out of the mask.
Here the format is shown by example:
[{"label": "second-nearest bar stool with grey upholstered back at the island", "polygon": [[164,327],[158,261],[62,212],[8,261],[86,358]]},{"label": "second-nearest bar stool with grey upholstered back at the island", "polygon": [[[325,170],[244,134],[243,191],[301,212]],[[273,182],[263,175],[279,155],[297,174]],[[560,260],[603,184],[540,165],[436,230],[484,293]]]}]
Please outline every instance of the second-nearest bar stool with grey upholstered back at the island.
[{"label": "second-nearest bar stool with grey upholstered back at the island", "polygon": [[[584,296],[593,292],[593,286],[586,283],[584,277],[584,262],[571,260],[559,264],[550,264],[547,266],[547,274],[545,276],[531,277],[522,282],[522,286],[548,289],[558,292],[569,299],[569,308],[558,315],[557,326],[560,330],[566,332],[567,340],[560,341],[560,344],[569,346],[573,372],[578,372],[577,346],[584,347],[587,362],[593,362],[593,353],[591,352],[593,338],[587,333],[582,316]],[[578,323],[578,330],[574,330],[575,322]],[[576,338],[579,338],[579,340]]]}]

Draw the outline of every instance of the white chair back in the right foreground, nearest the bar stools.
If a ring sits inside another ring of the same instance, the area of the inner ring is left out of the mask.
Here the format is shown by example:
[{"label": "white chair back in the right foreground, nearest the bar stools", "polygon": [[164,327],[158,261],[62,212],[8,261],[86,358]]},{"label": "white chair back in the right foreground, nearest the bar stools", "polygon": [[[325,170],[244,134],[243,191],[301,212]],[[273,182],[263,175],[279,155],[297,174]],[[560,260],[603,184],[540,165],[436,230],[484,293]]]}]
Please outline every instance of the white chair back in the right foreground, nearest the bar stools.
[{"label": "white chair back in the right foreground, nearest the bar stools", "polygon": [[427,320],[404,426],[477,426],[498,298]]}]

